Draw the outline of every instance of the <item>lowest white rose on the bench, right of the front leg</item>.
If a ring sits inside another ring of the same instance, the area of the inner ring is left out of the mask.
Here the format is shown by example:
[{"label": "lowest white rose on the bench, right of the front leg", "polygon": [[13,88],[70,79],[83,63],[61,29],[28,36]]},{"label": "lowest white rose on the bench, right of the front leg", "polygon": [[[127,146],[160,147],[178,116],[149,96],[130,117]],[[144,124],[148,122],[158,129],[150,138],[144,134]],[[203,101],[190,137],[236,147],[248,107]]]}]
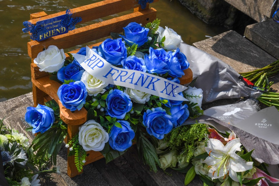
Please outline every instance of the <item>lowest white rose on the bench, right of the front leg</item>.
[{"label": "lowest white rose on the bench, right of the front leg", "polygon": [[108,142],[108,133],[95,120],[89,120],[79,127],[78,142],[85,151],[101,151]]}]

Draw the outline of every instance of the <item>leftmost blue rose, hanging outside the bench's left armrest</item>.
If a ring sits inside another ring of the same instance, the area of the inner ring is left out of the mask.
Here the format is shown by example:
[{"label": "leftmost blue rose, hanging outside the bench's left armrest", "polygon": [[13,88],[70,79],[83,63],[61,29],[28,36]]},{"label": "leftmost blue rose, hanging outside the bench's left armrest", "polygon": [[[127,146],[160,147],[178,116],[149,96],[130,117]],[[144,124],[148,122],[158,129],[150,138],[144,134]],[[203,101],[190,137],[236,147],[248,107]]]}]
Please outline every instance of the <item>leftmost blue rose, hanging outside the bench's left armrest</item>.
[{"label": "leftmost blue rose, hanging outside the bench's left armrest", "polygon": [[27,107],[25,121],[33,127],[32,133],[44,133],[51,128],[55,121],[54,111],[40,104],[37,107]]}]

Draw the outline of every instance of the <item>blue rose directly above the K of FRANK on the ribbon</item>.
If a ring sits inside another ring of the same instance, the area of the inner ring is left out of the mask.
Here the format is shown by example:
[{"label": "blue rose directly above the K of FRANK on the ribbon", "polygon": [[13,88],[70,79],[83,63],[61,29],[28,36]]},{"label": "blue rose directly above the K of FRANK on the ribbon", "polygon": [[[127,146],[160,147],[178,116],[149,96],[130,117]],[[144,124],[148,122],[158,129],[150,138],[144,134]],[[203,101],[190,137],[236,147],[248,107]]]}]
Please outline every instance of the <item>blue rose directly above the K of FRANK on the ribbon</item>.
[{"label": "blue rose directly above the K of FRANK on the ribbon", "polygon": [[169,55],[164,49],[149,48],[149,56],[144,56],[146,69],[150,73],[165,74],[169,71]]}]

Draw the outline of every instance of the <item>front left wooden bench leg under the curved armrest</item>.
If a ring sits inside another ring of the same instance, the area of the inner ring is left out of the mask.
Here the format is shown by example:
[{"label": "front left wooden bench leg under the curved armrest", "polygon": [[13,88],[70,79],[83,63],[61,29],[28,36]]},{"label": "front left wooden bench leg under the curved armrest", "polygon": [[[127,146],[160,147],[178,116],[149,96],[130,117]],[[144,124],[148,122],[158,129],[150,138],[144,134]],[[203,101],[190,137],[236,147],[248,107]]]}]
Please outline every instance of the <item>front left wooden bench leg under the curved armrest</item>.
[{"label": "front left wooden bench leg under the curved armrest", "polygon": [[[67,135],[67,142],[69,142],[71,140],[72,137],[74,137],[74,135],[79,131],[78,127],[80,127],[81,125],[68,125],[68,135]],[[69,148],[68,148],[68,154],[69,154]],[[68,163],[68,175],[70,178],[73,178],[81,173],[83,173],[83,171],[78,172],[78,169],[76,168],[75,165],[75,156],[68,156],[67,157],[67,163]]]}]

